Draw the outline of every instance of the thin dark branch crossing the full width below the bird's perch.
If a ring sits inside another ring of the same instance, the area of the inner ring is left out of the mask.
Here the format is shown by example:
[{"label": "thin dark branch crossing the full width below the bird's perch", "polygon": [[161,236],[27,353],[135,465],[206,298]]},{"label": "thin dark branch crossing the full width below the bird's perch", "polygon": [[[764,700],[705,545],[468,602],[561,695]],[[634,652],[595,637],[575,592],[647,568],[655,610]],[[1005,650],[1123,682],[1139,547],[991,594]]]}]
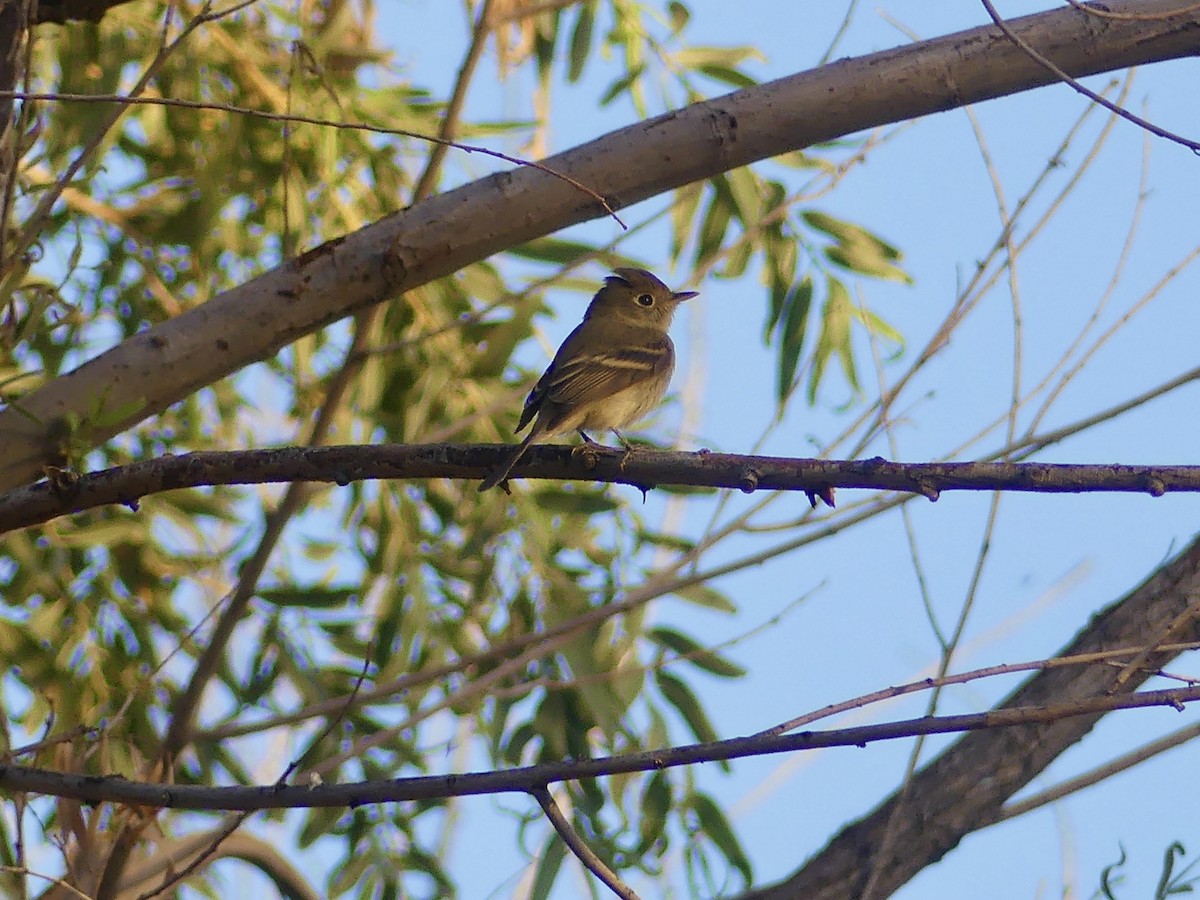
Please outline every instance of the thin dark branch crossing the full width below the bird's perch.
[{"label": "thin dark branch crossing the full width below the bird's perch", "polygon": [[1019,725],[1052,722],[1074,716],[1094,716],[1114,709],[1169,706],[1182,709],[1200,700],[1200,685],[1140,694],[1122,694],[1069,701],[1045,707],[1019,707],[966,715],[907,719],[854,728],[805,731],[797,734],[756,734],[666,750],[608,756],[596,760],[526,766],[523,768],[421,775],[348,785],[263,785],[256,787],[202,787],[127,781],[120,775],[80,775],[25,766],[0,766],[0,791],[65,797],[86,803],[127,803],[156,809],[254,811],[264,809],[314,809],[361,806],[444,797],[494,793],[533,793],[562,781],[602,778],[634,772],[654,772],[702,762],[739,760],[748,756],[817,750],[832,746],[866,746],[876,740],[895,740],[917,734],[946,734]]}]

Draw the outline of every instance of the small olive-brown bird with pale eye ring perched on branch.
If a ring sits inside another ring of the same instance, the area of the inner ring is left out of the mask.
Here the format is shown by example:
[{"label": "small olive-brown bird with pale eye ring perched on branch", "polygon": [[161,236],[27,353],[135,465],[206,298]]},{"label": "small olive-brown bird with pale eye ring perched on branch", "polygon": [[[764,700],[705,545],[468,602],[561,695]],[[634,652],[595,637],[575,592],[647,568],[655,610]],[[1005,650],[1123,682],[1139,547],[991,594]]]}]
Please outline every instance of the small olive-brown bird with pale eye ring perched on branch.
[{"label": "small olive-brown bird with pale eye ring perched on branch", "polygon": [[644,269],[614,269],[529,391],[516,427],[520,432],[536,416],[529,433],[479,490],[504,481],[540,438],[575,431],[595,443],[586,428],[611,428],[620,438],[617,428],[654,409],[674,371],[667,329],[676,307],[696,294],[672,292]]}]

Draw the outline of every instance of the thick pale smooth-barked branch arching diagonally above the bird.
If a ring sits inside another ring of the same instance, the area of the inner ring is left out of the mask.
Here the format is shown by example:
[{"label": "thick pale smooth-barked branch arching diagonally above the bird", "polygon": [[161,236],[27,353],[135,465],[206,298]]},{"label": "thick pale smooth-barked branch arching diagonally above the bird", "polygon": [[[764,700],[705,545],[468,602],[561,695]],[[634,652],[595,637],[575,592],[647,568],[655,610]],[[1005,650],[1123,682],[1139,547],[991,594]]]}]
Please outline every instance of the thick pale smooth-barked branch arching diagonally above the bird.
[{"label": "thick pale smooth-barked branch arching diagonally above the bird", "polygon": [[[1010,28],[1073,77],[1200,52],[1184,0],[1116,0]],[[1153,18],[1156,14],[1159,18]],[[1030,90],[1055,77],[995,26],[841,60],[637,122],[545,161],[624,206],[790,150]],[[535,168],[504,172],[329,241],[118,344],[0,413],[0,490],[37,478],[65,432],[104,440],[331,322],[497,251],[605,215]]]}]

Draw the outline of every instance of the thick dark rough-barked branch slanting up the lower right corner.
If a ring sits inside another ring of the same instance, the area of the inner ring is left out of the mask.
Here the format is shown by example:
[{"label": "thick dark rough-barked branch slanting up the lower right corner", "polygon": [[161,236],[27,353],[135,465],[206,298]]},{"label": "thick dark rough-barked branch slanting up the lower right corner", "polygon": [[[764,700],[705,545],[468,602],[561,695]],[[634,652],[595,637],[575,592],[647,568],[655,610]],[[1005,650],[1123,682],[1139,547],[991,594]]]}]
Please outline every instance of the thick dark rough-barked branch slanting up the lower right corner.
[{"label": "thick dark rough-barked branch slanting up the lower right corner", "polygon": [[[998,713],[1031,706],[1087,703],[1130,691],[1177,655],[1160,646],[1168,640],[1200,637],[1200,540],[1160,568],[1126,596],[1098,612],[1060,656],[1111,647],[1159,648],[1130,678],[1124,665],[1055,667],[1022,683]],[[1141,695],[1132,695],[1141,696]],[[1006,804],[1099,721],[1085,713],[1044,724],[977,731],[950,745],[905,787],[860,820],[846,826],[811,859],[776,886],[750,892],[742,900],[803,896],[808,900],[860,900],[874,871],[874,896],[893,894],[925,866],[936,863],[967,834],[1001,821]],[[886,850],[884,850],[886,847]]]}]

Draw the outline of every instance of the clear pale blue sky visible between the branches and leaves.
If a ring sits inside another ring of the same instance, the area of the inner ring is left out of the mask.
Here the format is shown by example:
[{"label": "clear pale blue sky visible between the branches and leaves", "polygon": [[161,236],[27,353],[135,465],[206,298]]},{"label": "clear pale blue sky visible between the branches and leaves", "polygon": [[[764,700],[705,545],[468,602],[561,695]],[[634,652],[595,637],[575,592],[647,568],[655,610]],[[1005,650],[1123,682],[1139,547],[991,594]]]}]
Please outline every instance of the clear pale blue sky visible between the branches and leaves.
[{"label": "clear pale blue sky visible between the branches and leaves", "polygon": [[[1010,2],[1003,5],[1002,12],[1016,16],[1050,6]],[[464,46],[461,6],[403,0],[383,2],[379,8],[382,32],[394,35],[397,60],[410,67],[416,80],[437,90],[446,88]],[[814,65],[841,23],[846,4],[756,0],[736,5],[696,0],[690,8],[690,42],[754,46],[763,59],[748,68],[760,79],[770,79]],[[862,5],[838,55],[907,42],[888,17],[924,37],[986,20],[978,4],[895,0]],[[490,54],[482,64],[485,71],[493,62]],[[636,121],[630,104],[595,109],[594,97],[616,73],[614,65],[594,62],[582,84],[556,86],[552,152]],[[1109,80],[1104,76],[1087,83],[1100,89]],[[1153,121],[1194,138],[1196,107],[1190,86],[1196,83],[1200,64],[1194,60],[1146,67],[1136,74],[1128,102]],[[528,90],[521,77],[504,83],[482,78],[472,91],[468,113],[521,116],[528,113]],[[1085,103],[1070,89],[1055,86],[976,108],[1009,204],[1043,170]],[[1094,136],[1102,122],[1103,116],[1093,116],[1085,133]],[[1081,139],[1069,151],[1068,167],[1051,175],[1054,184],[1066,181],[1069,164],[1079,162],[1087,145]],[[1200,241],[1195,217],[1200,179],[1194,156],[1160,139],[1147,142],[1134,126],[1117,124],[1084,185],[1022,257],[1019,286],[1026,383],[1037,380],[1055,364],[1104,292],[1138,198],[1144,152],[1148,152],[1148,198],[1133,251],[1102,322],[1115,322]],[[475,158],[458,162],[463,170],[481,170]],[[646,205],[656,208],[658,203]],[[908,354],[886,367],[895,372],[946,314],[956,287],[970,277],[976,260],[997,234],[992,186],[966,114],[959,110],[935,115],[904,128],[818,205],[870,227],[906,254],[905,265],[916,280],[912,287],[865,288],[868,305],[908,340]],[[635,208],[631,216],[638,211]],[[607,240],[614,236],[614,229],[612,222],[601,221],[574,233]],[[665,230],[652,232],[634,246],[650,262],[666,259]],[[601,274],[595,272],[598,277]],[[678,283],[686,275],[670,272],[664,277]],[[754,272],[738,281],[712,278],[701,289],[701,299],[676,325],[684,356],[676,389],[682,390],[689,382],[695,385],[692,379],[703,385],[698,391],[703,412],[695,440],[721,450],[748,451],[774,413],[774,356],[761,342],[764,292]],[[1196,365],[1198,296],[1200,276],[1192,270],[1096,355],[1054,407],[1048,425],[1093,413]],[[552,296],[551,301],[562,310],[558,320],[546,324],[553,342],[577,320],[580,298],[568,294]],[[974,426],[1006,408],[1012,384],[1012,306],[1001,290],[905,395],[899,408],[910,413],[898,430],[898,458],[924,461],[941,456],[973,433]],[[863,362],[865,377],[874,378],[869,359]],[[871,385],[866,391],[871,394]],[[803,408],[796,401],[766,451],[810,452],[812,439],[828,440],[842,427],[846,415],[839,407],[850,396],[848,388],[833,379],[815,408]],[[1085,437],[1050,448],[1038,458],[1195,462],[1198,401],[1200,389],[1193,384]],[[668,438],[677,421],[674,410],[650,433]],[[682,443],[689,446],[686,436]],[[997,443],[994,437],[959,458],[973,458]],[[876,452],[892,456],[883,444],[869,451]],[[754,499],[734,498],[731,508]],[[856,499],[859,497],[853,492],[840,497],[842,503]],[[788,498],[776,506],[798,512],[799,503]],[[946,619],[956,613],[967,590],[988,503],[985,496],[960,493],[943,496],[936,504],[920,500],[912,505],[932,601]],[[655,515],[653,503],[648,509],[648,515]],[[706,521],[707,514],[689,515],[682,528],[695,534]],[[967,629],[967,649],[956,668],[1052,653],[1093,611],[1140,582],[1172,548],[1189,540],[1195,522],[1196,499],[1190,496],[1006,497]],[[722,550],[709,564],[734,558],[749,546]],[[781,625],[731,650],[736,660],[751,667],[749,679],[702,683],[703,697],[722,736],[754,732],[827,702],[911,680],[928,674],[935,664],[936,644],[922,612],[908,546],[895,514],[834,541],[726,577],[720,587],[743,605],[732,625],[683,604],[666,602],[656,617],[685,622],[694,634],[715,642],[769,618],[803,594],[812,594]],[[1183,658],[1172,671],[1186,672],[1192,664],[1190,658]],[[985,709],[1014,683],[1006,679],[959,689],[947,696],[943,712]],[[886,708],[872,707],[865,720],[918,715],[924,702],[918,697]],[[1192,712],[1164,710],[1110,716],[1034,787],[1054,784],[1193,718]],[[930,742],[925,758],[942,744]],[[714,770],[703,773],[702,779],[737,816],[756,874],[760,881],[767,881],[786,875],[844,822],[865,812],[893,790],[907,754],[906,745],[895,743],[803,758],[742,761],[732,776]],[[1200,798],[1193,767],[1187,764],[1190,755],[1187,749],[1176,750],[1099,790],[973,835],[943,862],[922,872],[899,896],[960,898],[967,888],[971,896],[984,900],[1052,896],[1061,895],[1064,884],[1073,884],[1076,895],[1090,896],[1100,869],[1117,859],[1118,845],[1130,858],[1128,895],[1148,895],[1170,841],[1182,840],[1189,851],[1200,850],[1190,815]],[[494,815],[499,805],[518,804],[485,799],[463,803],[469,827],[451,863],[462,878],[463,896],[506,896],[511,890],[511,883],[502,884],[502,880],[518,870],[520,858],[514,853],[510,864],[498,858],[512,830],[510,818]],[[472,860],[484,858],[485,865],[473,865]],[[575,876],[564,877],[559,888],[558,896],[576,896],[581,882]],[[654,896],[655,892],[647,895]]]}]

